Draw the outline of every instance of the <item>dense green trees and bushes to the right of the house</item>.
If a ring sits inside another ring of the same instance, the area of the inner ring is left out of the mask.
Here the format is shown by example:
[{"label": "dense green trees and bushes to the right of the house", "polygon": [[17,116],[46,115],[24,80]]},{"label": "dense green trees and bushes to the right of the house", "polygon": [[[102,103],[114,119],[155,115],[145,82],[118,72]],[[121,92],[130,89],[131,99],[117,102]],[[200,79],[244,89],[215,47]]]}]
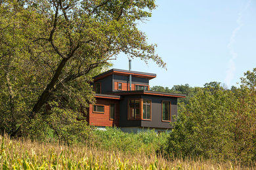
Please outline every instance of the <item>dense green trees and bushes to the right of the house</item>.
[{"label": "dense green trees and bushes to the right of the house", "polygon": [[219,82],[202,88],[188,84],[152,90],[185,93],[167,140],[169,156],[218,161],[256,161],[256,69],[247,71],[239,88],[228,90]]}]

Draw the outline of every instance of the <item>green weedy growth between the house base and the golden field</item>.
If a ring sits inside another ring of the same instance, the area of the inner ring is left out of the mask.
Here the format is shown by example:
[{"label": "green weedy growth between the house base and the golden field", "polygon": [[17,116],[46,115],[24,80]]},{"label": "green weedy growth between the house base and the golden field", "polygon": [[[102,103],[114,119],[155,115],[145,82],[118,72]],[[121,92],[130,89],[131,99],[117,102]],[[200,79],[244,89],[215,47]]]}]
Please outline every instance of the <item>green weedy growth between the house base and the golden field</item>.
[{"label": "green weedy growth between the house base and the golden field", "polygon": [[158,152],[165,145],[168,136],[167,133],[157,135],[153,130],[125,133],[112,127],[107,128],[106,131],[96,129],[93,133],[97,146],[104,149],[121,150],[130,154]]}]

